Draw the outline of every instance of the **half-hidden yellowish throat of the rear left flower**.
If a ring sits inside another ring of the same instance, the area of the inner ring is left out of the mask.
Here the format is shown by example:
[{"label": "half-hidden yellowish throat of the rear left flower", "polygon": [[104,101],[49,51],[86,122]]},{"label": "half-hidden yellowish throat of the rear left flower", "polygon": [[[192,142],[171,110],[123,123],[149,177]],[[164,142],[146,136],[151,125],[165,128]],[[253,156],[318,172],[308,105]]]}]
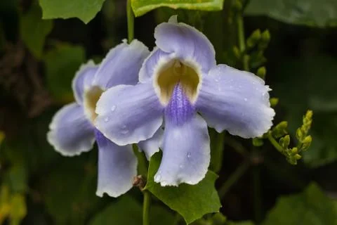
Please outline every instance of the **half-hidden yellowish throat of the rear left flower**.
[{"label": "half-hidden yellowish throat of the rear left flower", "polygon": [[97,114],[95,113],[96,103],[102,93],[103,89],[99,86],[93,86],[91,89],[84,91],[84,112],[91,122],[94,122],[97,117]]}]

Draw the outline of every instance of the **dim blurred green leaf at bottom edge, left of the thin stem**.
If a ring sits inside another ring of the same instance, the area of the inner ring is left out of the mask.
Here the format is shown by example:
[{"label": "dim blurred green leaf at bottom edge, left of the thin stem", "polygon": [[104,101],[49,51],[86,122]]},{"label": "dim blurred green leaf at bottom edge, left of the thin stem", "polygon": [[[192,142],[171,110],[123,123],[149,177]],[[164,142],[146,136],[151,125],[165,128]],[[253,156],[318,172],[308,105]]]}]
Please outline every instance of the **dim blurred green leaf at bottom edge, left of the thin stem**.
[{"label": "dim blurred green leaf at bottom edge, left of the thin stem", "polygon": [[96,214],[89,225],[127,224],[138,225],[142,221],[142,205],[128,195],[121,196]]}]

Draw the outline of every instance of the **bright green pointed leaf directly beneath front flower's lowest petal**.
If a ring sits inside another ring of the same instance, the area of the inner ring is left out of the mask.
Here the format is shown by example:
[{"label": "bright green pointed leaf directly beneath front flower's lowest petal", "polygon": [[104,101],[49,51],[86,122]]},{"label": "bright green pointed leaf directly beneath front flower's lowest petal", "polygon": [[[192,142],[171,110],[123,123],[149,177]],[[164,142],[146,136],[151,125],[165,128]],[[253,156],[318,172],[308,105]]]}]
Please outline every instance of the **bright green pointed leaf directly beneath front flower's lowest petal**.
[{"label": "bright green pointed leaf directly beneath front flower's lowest petal", "polygon": [[196,185],[180,184],[178,187],[161,187],[154,182],[154,174],[159,168],[160,161],[160,153],[152,156],[145,189],[181,214],[187,224],[201,218],[204,214],[219,211],[220,200],[214,187],[218,177],[216,174],[207,172],[206,177]]}]

